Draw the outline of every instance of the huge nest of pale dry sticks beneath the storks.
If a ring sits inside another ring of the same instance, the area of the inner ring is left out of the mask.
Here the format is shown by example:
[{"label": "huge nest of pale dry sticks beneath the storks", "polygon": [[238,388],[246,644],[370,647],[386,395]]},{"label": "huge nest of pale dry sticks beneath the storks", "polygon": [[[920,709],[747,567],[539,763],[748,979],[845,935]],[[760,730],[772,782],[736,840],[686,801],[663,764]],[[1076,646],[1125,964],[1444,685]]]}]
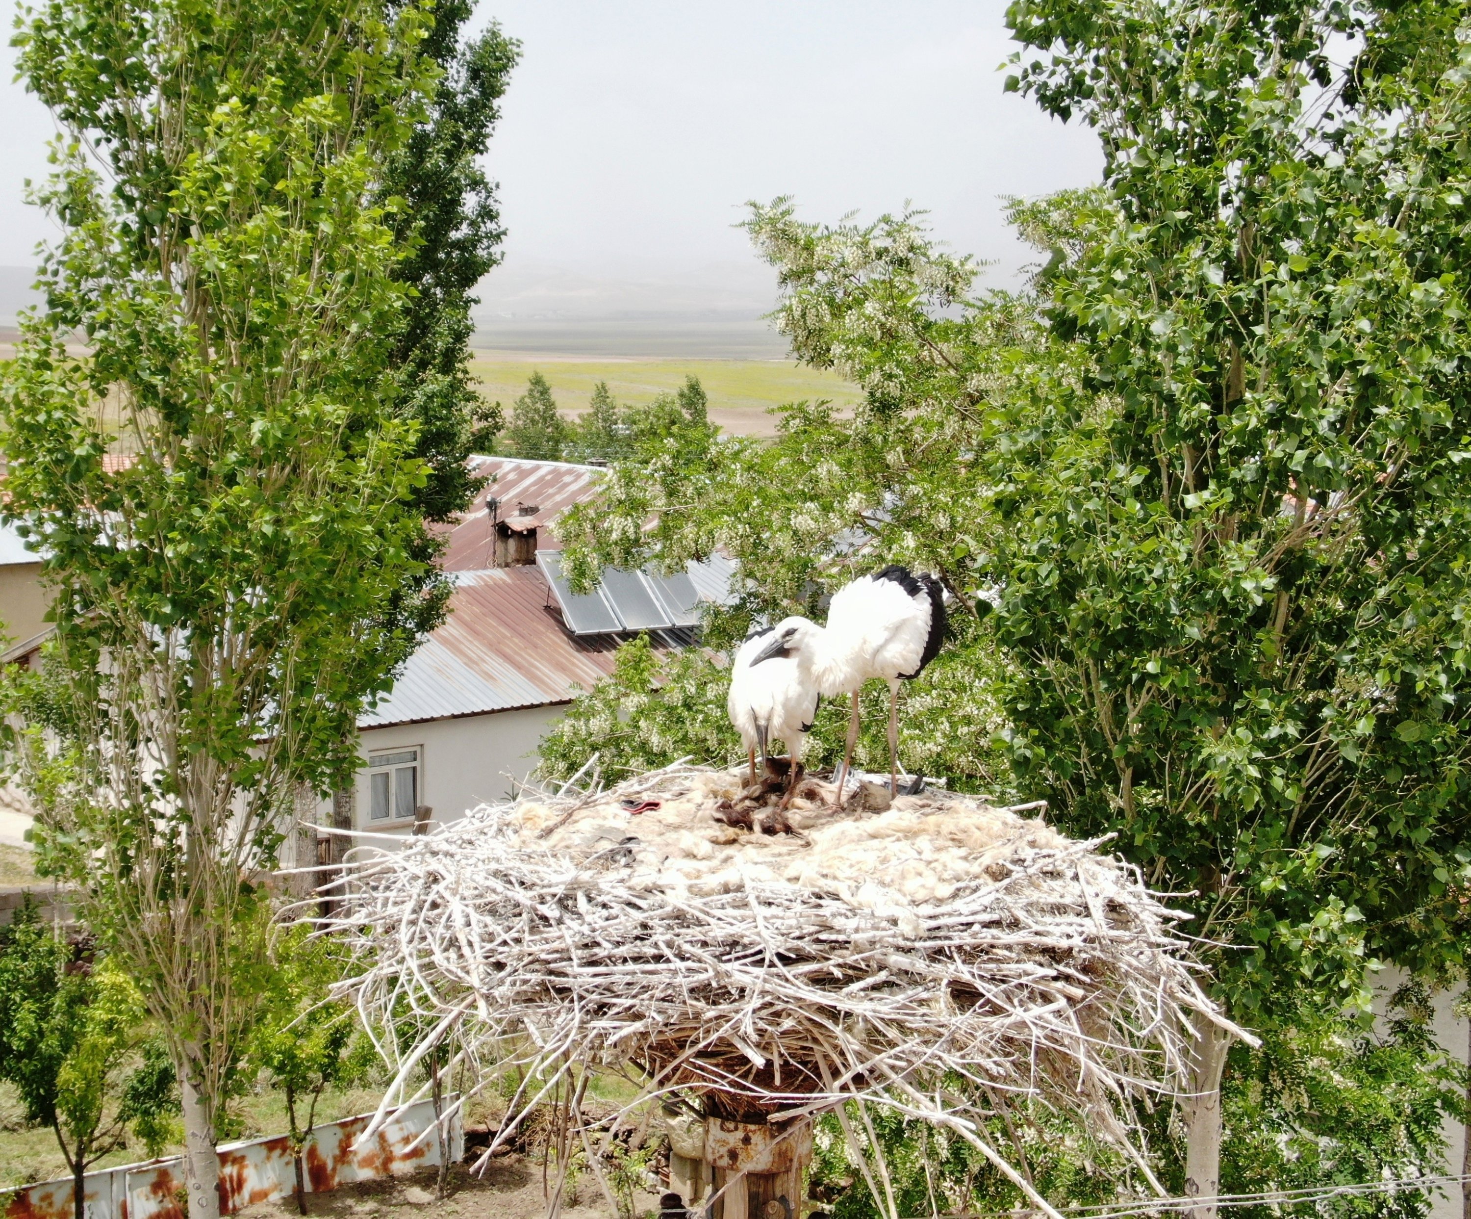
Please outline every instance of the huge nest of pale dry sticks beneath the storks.
[{"label": "huge nest of pale dry sticks beneath the storks", "polygon": [[877,1101],[1033,1194],[990,1114],[1041,1100],[1133,1154],[1122,1101],[1181,1088],[1193,1023],[1231,1028],[1186,916],[1102,841],[943,792],[880,813],[799,798],[763,833],[761,811],[730,824],[740,786],[680,764],[356,848],[330,922],[359,945],[343,988],[400,1069],[390,1097],[443,1045],[481,1081],[522,1069],[502,1138],[590,1064],[738,1120]]}]

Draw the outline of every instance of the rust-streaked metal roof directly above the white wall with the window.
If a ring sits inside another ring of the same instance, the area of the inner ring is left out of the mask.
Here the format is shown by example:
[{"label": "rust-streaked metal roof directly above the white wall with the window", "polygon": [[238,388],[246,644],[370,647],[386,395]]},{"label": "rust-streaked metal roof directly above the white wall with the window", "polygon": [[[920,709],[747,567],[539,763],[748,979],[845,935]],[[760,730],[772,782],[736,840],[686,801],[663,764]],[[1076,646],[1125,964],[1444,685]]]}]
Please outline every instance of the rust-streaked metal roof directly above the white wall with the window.
[{"label": "rust-streaked metal roof directly above the white wall with the window", "polygon": [[[535,567],[456,573],[449,620],[357,726],[447,720],[569,702],[613,671],[613,635],[574,636]],[[655,645],[688,646],[688,632],[656,632]]]}]

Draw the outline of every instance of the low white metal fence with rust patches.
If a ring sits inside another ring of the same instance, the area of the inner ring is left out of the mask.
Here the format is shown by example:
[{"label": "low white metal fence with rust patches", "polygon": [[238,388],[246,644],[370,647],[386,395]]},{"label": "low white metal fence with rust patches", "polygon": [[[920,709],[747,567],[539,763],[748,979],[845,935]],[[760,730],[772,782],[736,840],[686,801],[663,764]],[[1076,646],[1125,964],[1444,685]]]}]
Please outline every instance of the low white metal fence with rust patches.
[{"label": "low white metal fence with rust patches", "polygon": [[[316,1126],[306,1145],[307,1192],[321,1194],[353,1181],[400,1176],[440,1162],[438,1140],[430,1134],[434,1104],[402,1109],[371,1140],[360,1141],[371,1114]],[[456,1116],[449,1138],[450,1162],[465,1156],[465,1132]],[[84,1178],[87,1219],[185,1219],[184,1166],[178,1157],[119,1165]],[[291,1142],[285,1135],[229,1142],[219,1148],[219,1209],[232,1215],[247,1206],[288,1197],[296,1190]],[[43,1181],[0,1191],[4,1219],[72,1219],[72,1181]]]}]

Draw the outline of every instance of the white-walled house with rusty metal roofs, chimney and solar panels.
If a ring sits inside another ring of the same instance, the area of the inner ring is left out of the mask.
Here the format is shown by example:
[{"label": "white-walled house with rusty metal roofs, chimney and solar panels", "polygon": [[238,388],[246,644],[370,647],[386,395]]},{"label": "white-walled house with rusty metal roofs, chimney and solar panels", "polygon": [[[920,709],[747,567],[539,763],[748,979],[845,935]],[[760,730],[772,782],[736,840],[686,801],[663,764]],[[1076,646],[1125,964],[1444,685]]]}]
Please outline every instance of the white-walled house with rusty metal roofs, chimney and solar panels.
[{"label": "white-walled house with rusty metal roofs, chimney and solar panels", "polygon": [[[606,571],[575,596],[549,529],[590,496],[591,465],[475,458],[493,477],[450,530],[443,565],[455,580],[449,617],[409,658],[393,690],[365,714],[353,824],[410,833],[512,794],[537,766],[537,745],[580,689],[612,673],[631,633],[656,646],[693,642],[700,601],[724,599],[730,564],[685,576]],[[318,810],[331,822],[331,807]]]}]

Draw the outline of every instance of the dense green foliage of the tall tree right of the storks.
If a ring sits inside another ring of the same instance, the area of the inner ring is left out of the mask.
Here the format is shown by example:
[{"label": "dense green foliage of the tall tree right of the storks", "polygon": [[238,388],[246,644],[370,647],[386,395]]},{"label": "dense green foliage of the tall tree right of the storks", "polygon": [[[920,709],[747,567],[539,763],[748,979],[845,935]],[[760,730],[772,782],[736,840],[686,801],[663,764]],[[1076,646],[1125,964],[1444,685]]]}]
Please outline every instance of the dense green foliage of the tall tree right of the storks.
[{"label": "dense green foliage of the tall tree right of the storks", "polygon": [[[1047,368],[987,423],[1025,773],[1199,889],[1247,1019],[1367,954],[1458,967],[1467,876],[1471,49],[1424,6],[1018,3],[1018,85],[1103,140]],[[1183,37],[1184,32],[1184,37]],[[1328,44],[1414,72],[1337,87]],[[1149,62],[1147,88],[1141,65]],[[1019,62],[1019,60],[1018,60]],[[1165,116],[1168,115],[1168,121]],[[1055,371],[1066,361],[1066,378]]]}]

